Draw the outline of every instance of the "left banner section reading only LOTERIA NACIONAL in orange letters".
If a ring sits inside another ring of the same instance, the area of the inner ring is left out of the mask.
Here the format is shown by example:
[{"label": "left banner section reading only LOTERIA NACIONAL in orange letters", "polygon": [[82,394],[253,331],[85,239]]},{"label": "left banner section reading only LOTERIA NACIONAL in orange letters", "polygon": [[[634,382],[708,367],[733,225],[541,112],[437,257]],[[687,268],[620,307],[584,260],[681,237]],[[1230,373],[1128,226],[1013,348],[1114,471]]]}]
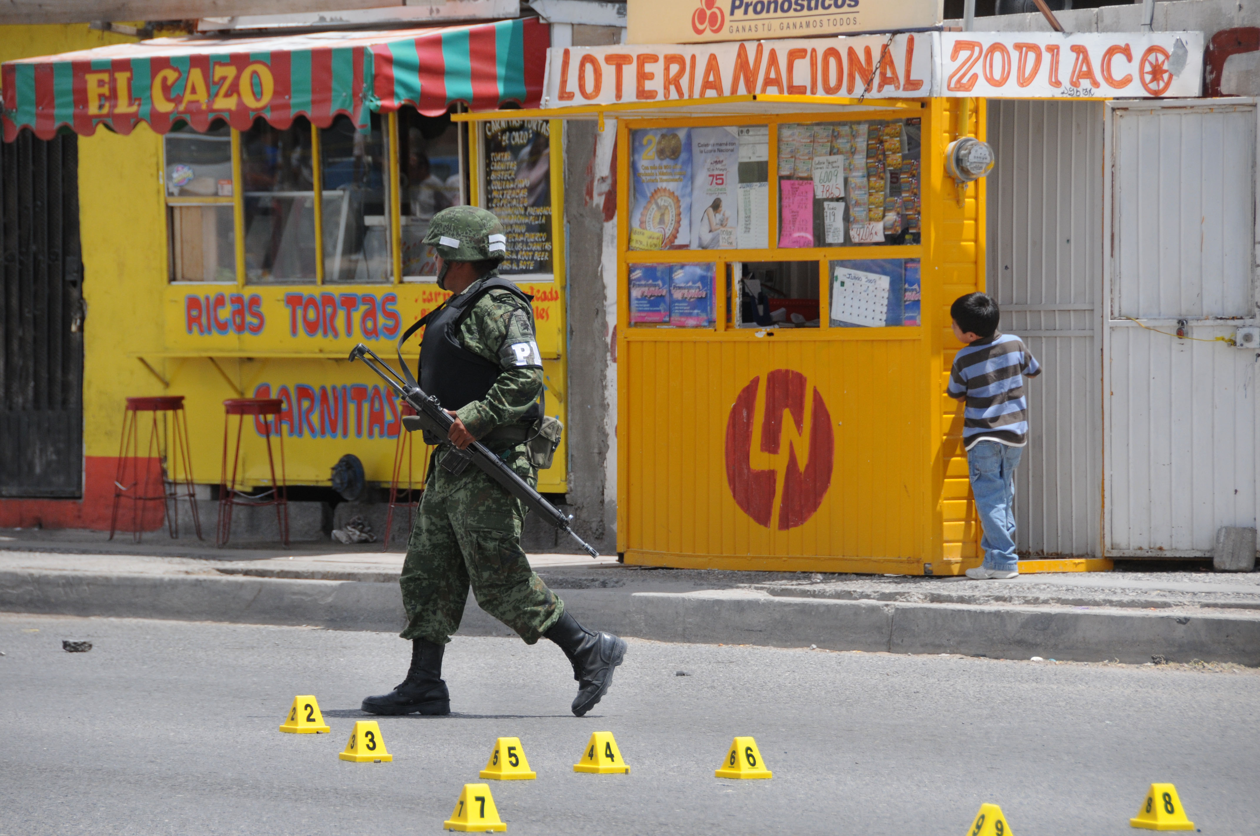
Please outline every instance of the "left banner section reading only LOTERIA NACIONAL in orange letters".
[{"label": "left banner section reading only LOTERIA NACIONAL in orange letters", "polygon": [[922,98],[934,33],[549,49],[543,107],[770,93]]}]

